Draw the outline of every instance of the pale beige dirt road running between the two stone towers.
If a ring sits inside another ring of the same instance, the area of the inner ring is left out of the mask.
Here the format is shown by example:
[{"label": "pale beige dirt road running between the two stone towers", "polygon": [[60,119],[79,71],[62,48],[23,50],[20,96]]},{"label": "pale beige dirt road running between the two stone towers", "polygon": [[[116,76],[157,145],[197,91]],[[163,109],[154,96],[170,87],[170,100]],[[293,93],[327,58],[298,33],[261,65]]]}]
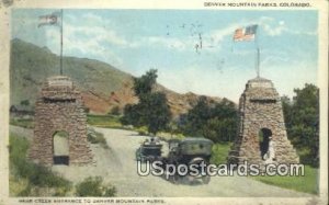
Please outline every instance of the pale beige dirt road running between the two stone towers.
[{"label": "pale beige dirt road running between the two stone towers", "polygon": [[[15,132],[25,133],[18,127]],[[209,184],[172,184],[160,176],[139,176],[135,151],[146,137],[135,132],[95,128],[103,133],[109,149],[91,145],[95,163],[88,167],[54,166],[52,169],[77,183],[91,175],[101,175],[116,186],[118,196],[234,196],[234,197],[307,197],[299,193],[268,185],[246,176],[213,176]],[[30,133],[31,134],[31,133]]]}]

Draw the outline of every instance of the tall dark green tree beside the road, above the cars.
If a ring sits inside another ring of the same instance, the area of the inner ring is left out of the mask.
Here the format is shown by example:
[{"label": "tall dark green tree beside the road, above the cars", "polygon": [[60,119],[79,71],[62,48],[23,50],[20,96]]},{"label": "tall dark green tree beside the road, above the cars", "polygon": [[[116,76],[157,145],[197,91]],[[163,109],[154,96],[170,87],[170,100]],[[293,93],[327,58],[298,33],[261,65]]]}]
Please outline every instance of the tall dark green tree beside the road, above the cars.
[{"label": "tall dark green tree beside the road, above the cars", "polygon": [[152,91],[157,77],[157,70],[150,69],[140,78],[134,78],[134,91],[139,102],[124,107],[123,124],[147,126],[152,134],[167,128],[171,113],[166,94]]}]

